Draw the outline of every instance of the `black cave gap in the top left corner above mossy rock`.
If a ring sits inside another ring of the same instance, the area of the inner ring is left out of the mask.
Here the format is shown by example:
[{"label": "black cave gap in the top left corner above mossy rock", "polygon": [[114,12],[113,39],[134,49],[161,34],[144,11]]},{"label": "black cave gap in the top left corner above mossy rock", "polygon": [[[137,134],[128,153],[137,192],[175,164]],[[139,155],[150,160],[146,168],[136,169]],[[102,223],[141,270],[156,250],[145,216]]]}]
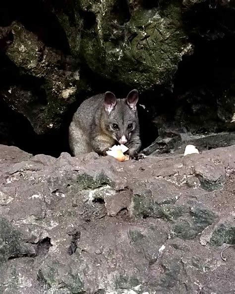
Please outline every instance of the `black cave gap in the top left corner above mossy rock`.
[{"label": "black cave gap in the top left corner above mossy rock", "polygon": [[[21,23],[27,30],[33,32],[47,46],[70,53],[66,34],[59,23],[54,9],[64,9],[59,6],[61,1],[25,0],[22,2],[8,0],[0,3],[0,26],[10,26],[13,21]],[[70,17],[71,18],[71,17]]]}]

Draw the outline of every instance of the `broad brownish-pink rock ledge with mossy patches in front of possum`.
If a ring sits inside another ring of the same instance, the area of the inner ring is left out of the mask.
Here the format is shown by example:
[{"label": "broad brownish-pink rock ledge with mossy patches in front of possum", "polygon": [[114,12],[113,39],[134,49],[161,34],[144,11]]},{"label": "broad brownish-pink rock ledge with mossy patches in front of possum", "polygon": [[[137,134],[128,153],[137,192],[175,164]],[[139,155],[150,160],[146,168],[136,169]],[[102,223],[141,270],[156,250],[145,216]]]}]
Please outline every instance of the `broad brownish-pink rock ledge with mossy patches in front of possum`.
[{"label": "broad brownish-pink rock ledge with mossy patches in front of possum", "polygon": [[1,145],[0,292],[232,294],[234,189],[235,146],[119,163]]}]

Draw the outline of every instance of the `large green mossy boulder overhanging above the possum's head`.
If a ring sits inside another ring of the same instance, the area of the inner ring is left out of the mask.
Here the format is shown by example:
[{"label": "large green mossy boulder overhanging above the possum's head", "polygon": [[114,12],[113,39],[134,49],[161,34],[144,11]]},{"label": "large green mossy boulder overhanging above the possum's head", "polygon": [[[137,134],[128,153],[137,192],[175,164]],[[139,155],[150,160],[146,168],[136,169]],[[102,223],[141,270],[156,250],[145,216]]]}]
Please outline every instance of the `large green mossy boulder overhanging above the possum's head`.
[{"label": "large green mossy boulder overhanging above the possum's head", "polygon": [[172,83],[182,56],[192,49],[179,3],[81,0],[80,6],[94,18],[81,39],[93,71],[140,90]]}]

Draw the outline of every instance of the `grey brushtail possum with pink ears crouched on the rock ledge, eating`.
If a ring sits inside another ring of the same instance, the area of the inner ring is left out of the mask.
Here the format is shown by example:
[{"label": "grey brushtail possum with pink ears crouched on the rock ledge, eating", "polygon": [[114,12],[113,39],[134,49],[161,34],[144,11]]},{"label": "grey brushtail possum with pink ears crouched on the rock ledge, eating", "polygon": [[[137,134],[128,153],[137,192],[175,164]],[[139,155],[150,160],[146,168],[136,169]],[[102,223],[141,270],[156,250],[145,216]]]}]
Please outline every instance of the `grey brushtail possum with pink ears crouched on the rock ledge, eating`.
[{"label": "grey brushtail possum with pink ears crouched on the rock ledge, eating", "polygon": [[119,143],[129,148],[130,157],[135,157],[141,147],[137,102],[136,89],[124,99],[106,92],[83,101],[69,126],[73,155],[91,151],[106,155],[110,147]]}]

